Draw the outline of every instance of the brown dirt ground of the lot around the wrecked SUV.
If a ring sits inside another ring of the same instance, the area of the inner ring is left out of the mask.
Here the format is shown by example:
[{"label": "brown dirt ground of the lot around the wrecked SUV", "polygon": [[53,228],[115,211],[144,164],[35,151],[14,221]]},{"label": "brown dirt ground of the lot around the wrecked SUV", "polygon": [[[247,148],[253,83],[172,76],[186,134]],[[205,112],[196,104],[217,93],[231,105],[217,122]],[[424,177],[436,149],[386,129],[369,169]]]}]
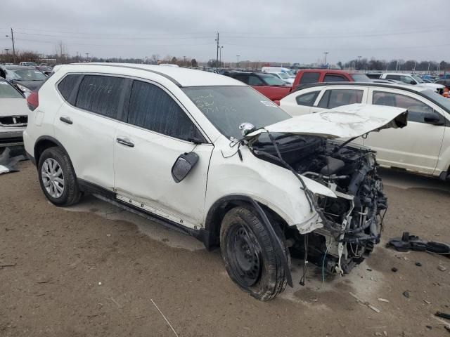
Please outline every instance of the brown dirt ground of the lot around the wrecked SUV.
[{"label": "brown dirt ground of the lot around the wrecked SUV", "polygon": [[20,168],[0,176],[0,265],[13,265],[0,267],[0,336],[175,336],[152,299],[179,336],[450,336],[433,317],[450,312],[450,259],[385,248],[404,230],[450,242],[449,184],[383,173],[390,209],[373,256],[324,284],[309,267],[306,286],[261,303],[219,251],[93,197],[57,208],[34,166]]}]

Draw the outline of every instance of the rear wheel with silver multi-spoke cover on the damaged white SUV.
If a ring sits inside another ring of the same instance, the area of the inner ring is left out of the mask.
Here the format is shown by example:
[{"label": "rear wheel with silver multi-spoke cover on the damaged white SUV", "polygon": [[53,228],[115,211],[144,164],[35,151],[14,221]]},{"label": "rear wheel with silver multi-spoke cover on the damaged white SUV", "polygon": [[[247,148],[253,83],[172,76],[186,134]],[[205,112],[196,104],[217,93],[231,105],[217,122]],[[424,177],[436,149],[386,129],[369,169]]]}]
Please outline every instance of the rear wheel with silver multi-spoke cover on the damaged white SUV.
[{"label": "rear wheel with silver multi-spoke cover on the damaged white SUV", "polygon": [[70,206],[81,199],[77,176],[68,154],[61,147],[44,150],[37,168],[41,189],[52,204]]}]

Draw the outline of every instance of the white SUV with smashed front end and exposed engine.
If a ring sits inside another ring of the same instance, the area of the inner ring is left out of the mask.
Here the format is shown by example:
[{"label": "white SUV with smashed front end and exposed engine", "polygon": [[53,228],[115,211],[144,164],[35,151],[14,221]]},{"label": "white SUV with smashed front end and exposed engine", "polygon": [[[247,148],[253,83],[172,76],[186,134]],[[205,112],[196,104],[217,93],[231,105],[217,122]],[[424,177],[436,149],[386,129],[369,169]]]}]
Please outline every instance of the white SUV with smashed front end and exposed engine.
[{"label": "white SUV with smashed front end and exposed engine", "polygon": [[95,194],[220,246],[244,291],[292,286],[290,254],[349,272],[380,241],[375,154],[348,142],[406,125],[352,105],[292,118],[240,81],[174,67],[56,67],[28,99],[25,150],[58,206]]}]

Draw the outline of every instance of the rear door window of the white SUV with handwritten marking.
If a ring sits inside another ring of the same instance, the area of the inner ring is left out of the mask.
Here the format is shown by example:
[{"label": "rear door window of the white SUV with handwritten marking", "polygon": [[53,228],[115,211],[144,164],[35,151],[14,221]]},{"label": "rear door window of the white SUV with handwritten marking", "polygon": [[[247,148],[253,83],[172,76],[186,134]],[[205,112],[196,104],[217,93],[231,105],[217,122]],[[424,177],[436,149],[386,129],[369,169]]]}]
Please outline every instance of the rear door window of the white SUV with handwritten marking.
[{"label": "rear door window of the white SUV with handwritten marking", "polygon": [[86,75],[79,84],[76,107],[117,119],[124,79],[112,76]]}]

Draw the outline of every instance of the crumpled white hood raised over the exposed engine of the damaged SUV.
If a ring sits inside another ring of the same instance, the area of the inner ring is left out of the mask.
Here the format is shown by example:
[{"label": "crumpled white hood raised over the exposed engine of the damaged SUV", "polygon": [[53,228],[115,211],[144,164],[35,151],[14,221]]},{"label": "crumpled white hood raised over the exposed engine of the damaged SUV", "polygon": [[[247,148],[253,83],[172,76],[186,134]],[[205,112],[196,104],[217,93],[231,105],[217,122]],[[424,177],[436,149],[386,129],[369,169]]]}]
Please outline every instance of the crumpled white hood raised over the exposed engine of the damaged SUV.
[{"label": "crumpled white hood raised over the exposed engine of the damaged SUV", "polygon": [[399,107],[384,105],[352,104],[331,110],[304,114],[271,124],[249,133],[253,138],[264,131],[270,133],[293,133],[325,138],[354,138],[383,128],[403,128],[408,112]]}]

